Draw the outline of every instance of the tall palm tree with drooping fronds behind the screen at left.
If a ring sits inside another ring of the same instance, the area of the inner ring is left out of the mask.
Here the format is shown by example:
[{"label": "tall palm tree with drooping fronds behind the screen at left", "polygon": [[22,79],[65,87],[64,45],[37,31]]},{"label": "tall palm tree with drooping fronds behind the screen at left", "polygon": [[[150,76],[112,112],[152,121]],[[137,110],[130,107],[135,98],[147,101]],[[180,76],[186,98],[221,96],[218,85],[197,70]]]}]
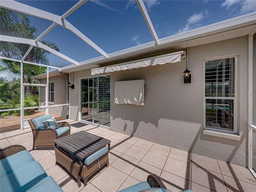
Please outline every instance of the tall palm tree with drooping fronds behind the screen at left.
[{"label": "tall palm tree with drooping fronds behind the screen at left", "polygon": [[[3,21],[3,22],[2,22]],[[10,36],[18,36],[22,38],[36,39],[37,29],[35,26],[30,26],[28,15],[18,13],[12,10],[1,8],[1,30],[0,33]],[[40,41],[50,48],[59,51],[58,46],[49,41]],[[4,57],[10,57],[21,60],[24,53],[27,52],[30,46],[27,44],[17,44],[10,42],[1,42],[0,54]],[[48,55],[50,52],[34,47],[26,56],[25,61],[36,62],[49,65]],[[23,82],[32,83],[30,77],[42,74],[46,71],[46,67],[23,64]],[[10,60],[2,60],[0,62],[0,71],[10,75],[20,76],[20,63]],[[25,92],[26,92],[25,88]]]}]

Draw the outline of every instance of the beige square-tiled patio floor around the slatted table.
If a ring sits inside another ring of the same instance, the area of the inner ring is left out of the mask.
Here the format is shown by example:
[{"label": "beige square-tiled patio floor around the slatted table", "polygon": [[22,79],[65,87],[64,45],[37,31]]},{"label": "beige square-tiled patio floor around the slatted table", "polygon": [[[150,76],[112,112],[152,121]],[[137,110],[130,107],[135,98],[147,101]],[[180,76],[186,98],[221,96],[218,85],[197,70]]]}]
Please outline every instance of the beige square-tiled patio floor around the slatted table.
[{"label": "beige square-tiled patio floor around the slatted table", "polygon": [[[76,123],[72,120],[70,125]],[[247,168],[228,164],[198,154],[162,146],[92,125],[71,127],[71,134],[86,130],[110,139],[109,166],[78,188],[76,180],[60,165],[55,165],[54,150],[32,151],[30,129],[0,134],[0,147],[21,144],[30,151],[46,173],[52,176],[64,192],[115,192],[154,173],[173,192],[191,189],[193,192],[255,192],[256,179]]]}]

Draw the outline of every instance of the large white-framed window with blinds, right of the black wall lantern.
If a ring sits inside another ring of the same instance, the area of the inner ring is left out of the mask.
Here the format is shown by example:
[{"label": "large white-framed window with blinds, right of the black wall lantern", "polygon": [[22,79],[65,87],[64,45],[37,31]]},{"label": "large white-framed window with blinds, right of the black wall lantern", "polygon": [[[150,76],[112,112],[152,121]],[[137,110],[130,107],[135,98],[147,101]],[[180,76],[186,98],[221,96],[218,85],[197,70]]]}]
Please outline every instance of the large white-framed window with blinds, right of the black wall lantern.
[{"label": "large white-framed window with blinds, right of the black wall lantern", "polygon": [[237,133],[237,57],[204,61],[204,128]]}]

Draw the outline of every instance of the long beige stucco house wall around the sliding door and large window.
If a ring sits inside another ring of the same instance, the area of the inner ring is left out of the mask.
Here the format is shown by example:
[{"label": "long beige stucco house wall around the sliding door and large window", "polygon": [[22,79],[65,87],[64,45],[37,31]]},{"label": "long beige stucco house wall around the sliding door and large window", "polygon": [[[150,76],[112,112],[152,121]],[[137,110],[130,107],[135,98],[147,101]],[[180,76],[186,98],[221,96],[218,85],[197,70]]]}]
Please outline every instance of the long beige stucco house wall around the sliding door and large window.
[{"label": "long beige stucco house wall around the sliding door and large window", "polygon": [[[254,40],[254,53],[255,44]],[[239,141],[202,133],[203,60],[226,56],[238,56]],[[247,166],[248,36],[189,48],[188,62],[188,69],[192,74],[191,84],[183,83],[182,72],[186,69],[186,59],[174,64],[112,72],[110,129],[180,150]],[[255,66],[254,57],[254,74],[256,74]],[[90,76],[90,70],[74,72],[75,89],[70,89],[70,118],[73,120],[79,119],[79,78]],[[138,79],[145,80],[144,106],[115,104],[114,82]],[[255,92],[254,84],[254,94]],[[254,98],[254,108],[255,104]],[[255,117],[254,109],[254,122]],[[128,121],[128,125],[124,124],[124,120]],[[255,133],[254,146],[256,146]],[[255,151],[254,168],[256,167]]]}]

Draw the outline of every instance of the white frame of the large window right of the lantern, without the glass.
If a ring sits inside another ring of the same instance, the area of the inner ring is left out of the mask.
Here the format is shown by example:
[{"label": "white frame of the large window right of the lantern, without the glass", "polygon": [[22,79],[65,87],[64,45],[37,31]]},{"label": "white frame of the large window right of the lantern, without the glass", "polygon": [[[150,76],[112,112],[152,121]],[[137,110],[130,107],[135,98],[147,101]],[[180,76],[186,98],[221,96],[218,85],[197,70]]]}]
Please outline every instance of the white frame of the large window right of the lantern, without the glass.
[{"label": "white frame of the large window right of the lantern, without the glass", "polygon": [[[211,60],[220,60],[220,59],[227,59],[227,58],[235,58],[234,68],[235,68],[235,78],[234,78],[234,97],[206,97],[205,96],[205,62]],[[220,57],[214,59],[206,59],[203,60],[203,128],[205,130],[212,130],[216,132],[227,132],[237,134],[237,92],[238,92],[238,56],[228,56],[228,57]],[[226,130],[224,128],[213,128],[206,126],[206,99],[226,99],[226,100],[234,100],[234,116],[233,116],[233,130]]]}]

